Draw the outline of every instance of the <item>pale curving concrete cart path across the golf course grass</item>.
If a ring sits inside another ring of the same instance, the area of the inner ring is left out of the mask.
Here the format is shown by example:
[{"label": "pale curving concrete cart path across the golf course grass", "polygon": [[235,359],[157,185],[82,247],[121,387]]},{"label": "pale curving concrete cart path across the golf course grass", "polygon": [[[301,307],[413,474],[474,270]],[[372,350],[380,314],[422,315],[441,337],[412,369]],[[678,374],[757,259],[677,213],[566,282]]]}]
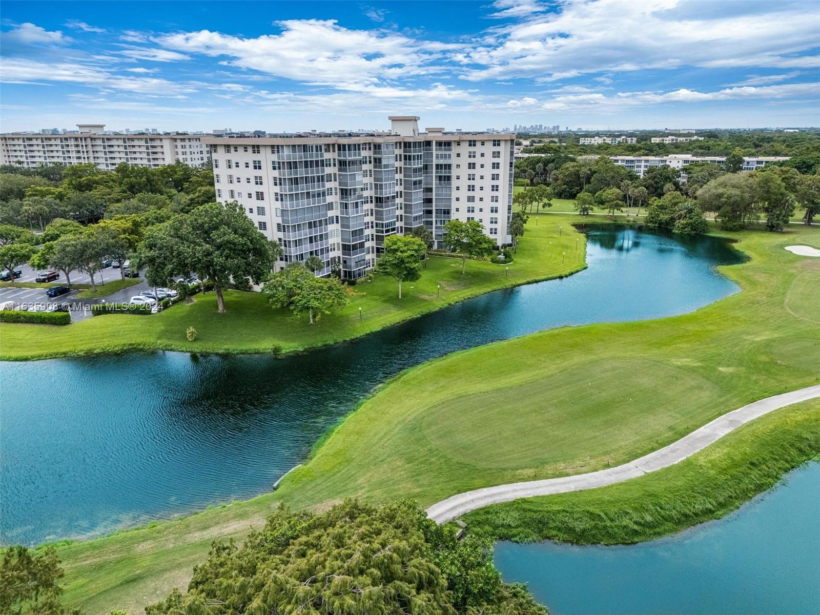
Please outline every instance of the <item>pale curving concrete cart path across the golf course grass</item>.
[{"label": "pale curving concrete cart path across the golf course grass", "polygon": [[820,385],[773,395],[766,399],[758,399],[758,401],[749,403],[743,408],[738,408],[724,414],[722,417],[717,417],[714,421],[707,423],[689,435],[685,435],[681,440],[677,440],[663,449],[658,449],[654,453],[635,459],[635,461],[624,463],[622,466],[610,467],[606,470],[587,474],[577,474],[576,476],[511,483],[509,485],[467,491],[433,504],[430,508],[427,508],[427,516],[436,523],[445,523],[460,517],[465,512],[476,510],[476,508],[484,508],[490,504],[512,502],[514,499],[531,498],[535,495],[562,494],[567,491],[594,489],[595,487],[627,481],[637,476],[643,476],[647,472],[672,466],[699,450],[705,449],[709,444],[719,440],[732,430],[736,430],[741,425],[762,417],[768,412],[790,406],[792,403],[818,397],[820,397]]}]

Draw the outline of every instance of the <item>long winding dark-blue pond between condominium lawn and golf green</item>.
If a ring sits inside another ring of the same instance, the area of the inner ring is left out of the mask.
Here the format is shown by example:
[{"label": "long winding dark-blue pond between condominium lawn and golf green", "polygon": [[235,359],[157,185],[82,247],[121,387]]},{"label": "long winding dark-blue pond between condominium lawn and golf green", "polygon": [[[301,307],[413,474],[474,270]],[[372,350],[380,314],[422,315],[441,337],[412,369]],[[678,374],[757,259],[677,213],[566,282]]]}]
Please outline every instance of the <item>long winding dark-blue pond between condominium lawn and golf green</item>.
[{"label": "long winding dark-blue pond between condominium lawn and golf green", "polygon": [[98,535],[270,490],[326,428],[430,358],[564,325],[689,312],[736,292],[713,238],[590,227],[589,268],[287,358],[130,353],[0,364],[5,544]]}]

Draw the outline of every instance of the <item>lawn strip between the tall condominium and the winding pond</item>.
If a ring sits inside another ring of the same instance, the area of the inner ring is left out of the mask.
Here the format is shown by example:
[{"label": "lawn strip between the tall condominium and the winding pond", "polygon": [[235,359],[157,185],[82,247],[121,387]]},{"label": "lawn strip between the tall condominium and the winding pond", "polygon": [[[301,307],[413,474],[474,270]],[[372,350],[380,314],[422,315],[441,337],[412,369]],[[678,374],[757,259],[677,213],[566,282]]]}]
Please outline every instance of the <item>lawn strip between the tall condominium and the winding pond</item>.
[{"label": "lawn strip between the tall condominium and the winding pond", "polygon": [[[569,218],[576,221],[576,217]],[[182,350],[212,353],[289,352],[352,339],[394,325],[495,289],[521,285],[535,280],[567,276],[585,267],[583,235],[564,232],[567,219],[526,227],[514,262],[506,266],[490,262],[467,261],[462,274],[461,259],[430,257],[421,280],[403,284],[399,299],[395,280],[385,276],[365,285],[354,286],[356,295],[348,307],[322,314],[310,325],[307,316],[296,317],[288,310],[274,310],[259,293],[225,293],[227,312],[216,312],[213,293],[196,295],[196,303],[179,303],[150,317],[107,315],[73,323],[43,338],[30,325],[0,324],[0,358],[24,360],[134,349]],[[576,237],[581,237],[578,248]],[[561,262],[566,252],[565,262]],[[126,280],[127,281],[127,280]],[[109,289],[114,282],[105,286]],[[440,297],[436,298],[436,286]],[[108,290],[106,292],[109,292]],[[362,308],[362,321],[358,308]],[[195,342],[185,338],[194,326]]]}]

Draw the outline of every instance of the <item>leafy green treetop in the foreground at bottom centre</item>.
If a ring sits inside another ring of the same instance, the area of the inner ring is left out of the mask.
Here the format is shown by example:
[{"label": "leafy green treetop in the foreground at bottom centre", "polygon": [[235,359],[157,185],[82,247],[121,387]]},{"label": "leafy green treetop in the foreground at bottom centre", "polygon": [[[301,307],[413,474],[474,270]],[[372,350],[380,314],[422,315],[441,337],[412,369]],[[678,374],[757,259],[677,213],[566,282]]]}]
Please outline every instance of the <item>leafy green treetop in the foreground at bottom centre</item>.
[{"label": "leafy green treetop in the foreground at bottom centre", "polygon": [[215,542],[147,615],[546,615],[521,585],[505,585],[490,545],[455,540],[410,502],[347,500],[327,512],[280,508],[239,547]]}]

